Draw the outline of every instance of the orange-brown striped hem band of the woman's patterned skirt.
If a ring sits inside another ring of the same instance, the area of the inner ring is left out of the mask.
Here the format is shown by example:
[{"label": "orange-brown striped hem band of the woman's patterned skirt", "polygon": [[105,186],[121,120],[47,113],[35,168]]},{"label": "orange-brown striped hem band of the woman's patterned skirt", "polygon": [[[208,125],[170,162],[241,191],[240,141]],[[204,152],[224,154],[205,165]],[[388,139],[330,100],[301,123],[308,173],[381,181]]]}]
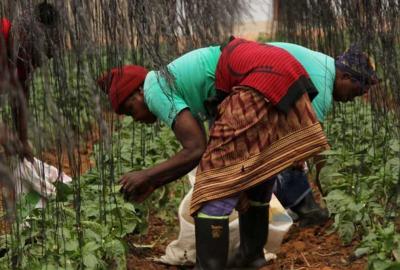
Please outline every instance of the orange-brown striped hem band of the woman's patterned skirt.
[{"label": "orange-brown striped hem band of the woman's patterned skirt", "polygon": [[[226,198],[253,187],[288,168],[294,161],[309,158],[326,149],[329,145],[317,122],[282,137],[245,161],[200,172],[196,176],[191,214],[203,202]],[[243,179],[250,180],[243,183]]]}]

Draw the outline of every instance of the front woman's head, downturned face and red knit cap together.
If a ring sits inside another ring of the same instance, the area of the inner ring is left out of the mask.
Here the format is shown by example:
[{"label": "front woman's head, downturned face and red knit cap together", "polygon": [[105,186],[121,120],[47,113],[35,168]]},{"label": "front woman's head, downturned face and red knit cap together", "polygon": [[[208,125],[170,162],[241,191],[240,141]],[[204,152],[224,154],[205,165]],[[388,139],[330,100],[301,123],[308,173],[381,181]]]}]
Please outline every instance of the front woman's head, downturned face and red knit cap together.
[{"label": "front woman's head, downturned face and red knit cap together", "polygon": [[154,123],[157,118],[144,101],[143,83],[147,73],[144,67],[126,65],[111,69],[97,83],[108,94],[111,106],[117,114],[132,116],[139,122]]}]

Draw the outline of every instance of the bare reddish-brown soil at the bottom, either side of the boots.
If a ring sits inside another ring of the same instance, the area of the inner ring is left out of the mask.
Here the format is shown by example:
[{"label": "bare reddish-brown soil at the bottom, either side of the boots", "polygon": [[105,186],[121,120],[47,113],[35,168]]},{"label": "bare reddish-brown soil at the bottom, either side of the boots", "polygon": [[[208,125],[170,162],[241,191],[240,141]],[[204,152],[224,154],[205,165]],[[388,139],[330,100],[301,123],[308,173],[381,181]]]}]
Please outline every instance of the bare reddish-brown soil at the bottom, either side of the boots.
[{"label": "bare reddish-brown soil at the bottom, either side of the boots", "polygon": [[[343,246],[336,233],[330,233],[332,221],[324,226],[313,228],[299,228],[293,225],[284,239],[278,258],[262,270],[361,270],[366,268],[366,260],[351,261],[350,257],[357,243]],[[128,255],[128,269],[143,270],[177,270],[188,269],[175,266],[166,266],[152,261],[154,257],[164,254],[165,247],[177,236],[179,228],[168,228],[159,218],[151,218],[147,235],[130,236]],[[175,230],[175,231],[174,231]],[[161,236],[161,237],[160,237]],[[137,248],[141,246],[153,246],[152,248]]]}]

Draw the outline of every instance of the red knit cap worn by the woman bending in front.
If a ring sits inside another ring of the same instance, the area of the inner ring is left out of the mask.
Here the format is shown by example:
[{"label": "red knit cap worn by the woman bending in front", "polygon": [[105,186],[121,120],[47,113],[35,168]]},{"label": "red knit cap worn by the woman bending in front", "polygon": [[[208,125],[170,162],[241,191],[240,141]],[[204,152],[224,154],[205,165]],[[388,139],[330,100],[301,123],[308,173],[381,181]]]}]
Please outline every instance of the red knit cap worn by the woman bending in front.
[{"label": "red knit cap worn by the woman bending in front", "polygon": [[108,94],[116,113],[126,99],[144,83],[148,70],[141,66],[126,65],[113,68],[99,79],[97,84]]}]

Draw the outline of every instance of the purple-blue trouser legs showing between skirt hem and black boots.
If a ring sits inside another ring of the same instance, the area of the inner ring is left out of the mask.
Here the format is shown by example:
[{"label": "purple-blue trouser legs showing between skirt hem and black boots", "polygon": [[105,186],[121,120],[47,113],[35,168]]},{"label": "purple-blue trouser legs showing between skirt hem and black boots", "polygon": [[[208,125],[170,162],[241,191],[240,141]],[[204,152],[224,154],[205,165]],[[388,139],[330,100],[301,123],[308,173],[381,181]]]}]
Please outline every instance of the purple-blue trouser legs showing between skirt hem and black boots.
[{"label": "purple-blue trouser legs showing between skirt hem and black boots", "polygon": [[[269,202],[272,197],[272,189],[275,186],[275,182],[276,177],[273,177],[249,190],[246,190],[245,192],[248,199],[258,203]],[[239,201],[239,196],[240,194],[237,194],[233,197],[206,202],[200,209],[200,213],[214,217],[229,216],[236,207]]]}]

